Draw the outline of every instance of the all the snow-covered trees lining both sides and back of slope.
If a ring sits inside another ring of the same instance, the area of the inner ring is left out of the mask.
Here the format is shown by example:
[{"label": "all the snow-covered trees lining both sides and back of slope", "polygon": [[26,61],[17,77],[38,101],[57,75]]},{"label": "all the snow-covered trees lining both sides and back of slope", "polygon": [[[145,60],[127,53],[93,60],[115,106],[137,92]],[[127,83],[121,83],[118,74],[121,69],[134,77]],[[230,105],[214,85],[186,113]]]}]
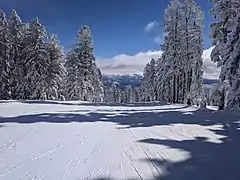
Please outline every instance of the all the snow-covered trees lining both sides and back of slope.
[{"label": "all the snow-covered trees lining both sides and back of slope", "polygon": [[[211,0],[213,62],[224,84],[221,109],[240,107],[240,1]],[[91,30],[83,26],[63,59],[55,35],[36,18],[23,23],[16,11],[0,11],[0,99],[67,99],[106,102],[164,101],[205,105],[203,13],[194,0],[171,0],[165,11],[163,54],[143,72],[140,88],[104,87],[93,54]],[[225,86],[225,84],[228,84]]]}]

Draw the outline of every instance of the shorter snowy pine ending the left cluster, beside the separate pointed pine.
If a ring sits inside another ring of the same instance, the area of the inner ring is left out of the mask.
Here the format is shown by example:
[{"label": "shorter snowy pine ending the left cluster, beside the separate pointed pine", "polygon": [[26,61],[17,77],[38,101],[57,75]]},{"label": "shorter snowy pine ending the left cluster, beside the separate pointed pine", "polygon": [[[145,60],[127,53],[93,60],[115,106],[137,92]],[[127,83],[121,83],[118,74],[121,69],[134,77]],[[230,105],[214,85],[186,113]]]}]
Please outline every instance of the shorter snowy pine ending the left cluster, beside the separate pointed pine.
[{"label": "shorter snowy pine ending the left cluster, beside the separate pointed pine", "polygon": [[46,43],[46,48],[48,53],[46,98],[57,100],[61,95],[60,88],[65,75],[65,70],[61,63],[63,50],[55,35],[50,36],[49,42]]}]

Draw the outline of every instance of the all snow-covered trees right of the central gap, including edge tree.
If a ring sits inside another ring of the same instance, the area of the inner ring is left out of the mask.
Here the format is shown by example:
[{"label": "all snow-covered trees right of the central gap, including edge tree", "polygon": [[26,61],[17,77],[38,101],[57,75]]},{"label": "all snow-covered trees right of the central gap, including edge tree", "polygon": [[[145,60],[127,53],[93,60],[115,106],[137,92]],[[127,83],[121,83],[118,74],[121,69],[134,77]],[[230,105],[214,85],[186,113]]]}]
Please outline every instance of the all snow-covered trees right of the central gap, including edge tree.
[{"label": "all snow-covered trees right of the central gap, including edge tree", "polygon": [[211,60],[221,67],[220,87],[209,100],[203,91],[203,13],[194,0],[171,0],[165,11],[163,55],[144,70],[141,86],[145,101],[218,104],[240,108],[240,1],[210,0]]}]

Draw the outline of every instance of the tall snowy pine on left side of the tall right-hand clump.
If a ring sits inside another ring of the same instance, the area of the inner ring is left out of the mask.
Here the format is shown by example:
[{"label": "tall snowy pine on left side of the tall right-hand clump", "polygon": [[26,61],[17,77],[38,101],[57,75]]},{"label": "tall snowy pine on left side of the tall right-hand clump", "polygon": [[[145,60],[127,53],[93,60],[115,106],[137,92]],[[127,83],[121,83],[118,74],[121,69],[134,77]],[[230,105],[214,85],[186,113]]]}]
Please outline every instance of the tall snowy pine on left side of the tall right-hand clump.
[{"label": "tall snowy pine on left side of the tall right-hand clump", "polygon": [[168,84],[171,84],[171,99],[175,103],[179,101],[179,76],[182,71],[182,2],[180,0],[171,0],[170,5],[165,10],[165,26],[166,36],[162,46],[163,58],[166,62],[165,77]]}]

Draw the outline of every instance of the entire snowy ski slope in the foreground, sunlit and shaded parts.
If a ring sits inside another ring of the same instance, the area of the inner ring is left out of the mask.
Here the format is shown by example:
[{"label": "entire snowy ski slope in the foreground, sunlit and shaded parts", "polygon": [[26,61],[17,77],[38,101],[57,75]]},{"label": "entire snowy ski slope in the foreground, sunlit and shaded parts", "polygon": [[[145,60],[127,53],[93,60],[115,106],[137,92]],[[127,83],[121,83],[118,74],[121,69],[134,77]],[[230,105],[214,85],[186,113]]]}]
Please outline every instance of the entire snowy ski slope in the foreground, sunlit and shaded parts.
[{"label": "entire snowy ski slope in the foreground, sunlit and shaded parts", "polygon": [[0,101],[1,180],[239,180],[237,113]]}]

